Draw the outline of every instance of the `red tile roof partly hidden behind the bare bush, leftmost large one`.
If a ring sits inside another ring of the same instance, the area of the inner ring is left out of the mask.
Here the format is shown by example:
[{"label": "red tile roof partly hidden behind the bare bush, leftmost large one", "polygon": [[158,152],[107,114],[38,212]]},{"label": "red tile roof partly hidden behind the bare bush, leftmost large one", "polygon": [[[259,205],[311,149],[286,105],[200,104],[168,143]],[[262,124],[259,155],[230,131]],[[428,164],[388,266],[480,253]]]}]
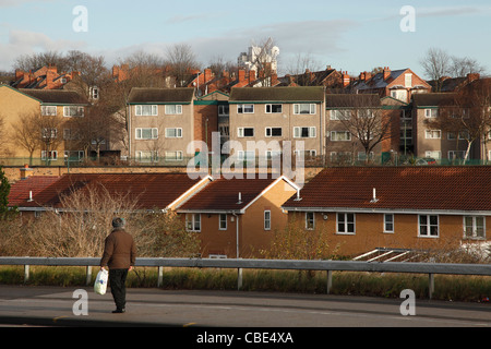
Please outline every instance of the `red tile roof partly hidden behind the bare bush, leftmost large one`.
[{"label": "red tile roof partly hidden behind the bare bush, leftmost large one", "polygon": [[[19,207],[61,207],[63,194],[73,190],[88,191],[100,184],[111,194],[129,194],[137,201],[137,208],[163,209],[199,182],[187,173],[76,173],[51,179],[51,182],[43,179],[31,177],[13,184],[10,203],[14,205],[15,202]],[[33,202],[28,202],[29,188],[36,183],[44,188],[33,191]]]}]

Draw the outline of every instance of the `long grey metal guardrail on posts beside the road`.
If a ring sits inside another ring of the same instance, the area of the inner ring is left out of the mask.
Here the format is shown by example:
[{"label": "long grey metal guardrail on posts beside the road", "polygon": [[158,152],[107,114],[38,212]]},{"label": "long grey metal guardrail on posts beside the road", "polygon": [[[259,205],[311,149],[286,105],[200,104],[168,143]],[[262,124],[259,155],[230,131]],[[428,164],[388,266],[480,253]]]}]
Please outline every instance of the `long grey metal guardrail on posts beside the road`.
[{"label": "long grey metal guardrail on posts beside the road", "polygon": [[[98,257],[0,257],[0,265],[24,265],[24,281],[29,277],[31,265],[85,266],[86,284],[92,281],[92,267]],[[294,269],[327,272],[327,293],[332,287],[332,272],[410,273],[429,275],[429,297],[434,291],[434,274],[491,276],[491,264],[458,263],[400,263],[357,261],[298,261],[298,260],[242,260],[242,258],[136,258],[135,266],[158,268],[157,286],[161,286],[164,267],[232,268],[238,269],[238,289],[242,287],[242,269]]]}]

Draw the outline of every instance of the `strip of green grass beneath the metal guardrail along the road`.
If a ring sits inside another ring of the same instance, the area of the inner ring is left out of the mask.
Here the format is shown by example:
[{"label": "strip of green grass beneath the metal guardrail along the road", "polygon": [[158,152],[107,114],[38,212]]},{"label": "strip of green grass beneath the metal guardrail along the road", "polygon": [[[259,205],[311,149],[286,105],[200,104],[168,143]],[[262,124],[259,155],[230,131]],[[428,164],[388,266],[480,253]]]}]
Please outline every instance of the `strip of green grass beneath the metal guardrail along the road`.
[{"label": "strip of green grass beneath the metal guardrail along the road", "polygon": [[[94,282],[97,268],[93,268]],[[156,287],[157,269],[139,267],[130,273],[128,287]],[[32,286],[85,286],[85,267],[32,266]],[[244,291],[325,293],[325,272],[244,269]],[[0,285],[23,285],[22,266],[0,267]],[[411,289],[417,298],[428,298],[428,275],[390,273],[333,273],[332,294],[399,298],[400,291]],[[166,268],[163,289],[237,290],[237,269]],[[483,301],[491,298],[491,277],[436,275],[433,299],[452,301]]]}]

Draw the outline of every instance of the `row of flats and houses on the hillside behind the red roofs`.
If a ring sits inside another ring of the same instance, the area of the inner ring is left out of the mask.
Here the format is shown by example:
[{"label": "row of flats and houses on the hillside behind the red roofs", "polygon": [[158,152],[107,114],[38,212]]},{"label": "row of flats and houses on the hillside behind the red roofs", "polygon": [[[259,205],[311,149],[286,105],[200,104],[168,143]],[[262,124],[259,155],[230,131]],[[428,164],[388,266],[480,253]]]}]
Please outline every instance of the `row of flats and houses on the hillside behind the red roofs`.
[{"label": "row of flats and houses on the hillside behind the red roofs", "polygon": [[[206,81],[205,76],[211,77]],[[87,98],[71,89],[0,85],[4,124],[1,157],[31,156],[63,164],[73,158],[82,160],[89,155],[87,148],[97,148],[103,155],[137,164],[182,166],[197,153],[219,152],[238,160],[271,159],[288,146],[294,155],[302,153],[307,164],[316,165],[380,164],[395,161],[402,155],[443,164],[464,157],[481,161],[491,158],[489,123],[471,142],[470,131],[444,130],[431,123],[443,115],[441,111],[455,109],[459,89],[487,81],[472,74],[443,93],[432,92],[431,82],[410,69],[384,68],[376,74],[363,72],[352,79],[328,68],[275,77],[268,87],[259,84],[253,72],[240,76],[242,80],[230,83],[226,91],[212,87],[211,74],[196,74],[190,87],[134,87],[121,112],[124,128],[94,124],[92,129],[97,132],[91,130],[92,139],[84,145],[79,142],[77,128],[93,122],[84,122],[84,118],[96,103],[98,91],[94,95],[91,89]],[[29,110],[62,119],[56,127],[41,127],[41,145],[34,153],[15,128]],[[258,144],[266,147],[259,148]]]}]

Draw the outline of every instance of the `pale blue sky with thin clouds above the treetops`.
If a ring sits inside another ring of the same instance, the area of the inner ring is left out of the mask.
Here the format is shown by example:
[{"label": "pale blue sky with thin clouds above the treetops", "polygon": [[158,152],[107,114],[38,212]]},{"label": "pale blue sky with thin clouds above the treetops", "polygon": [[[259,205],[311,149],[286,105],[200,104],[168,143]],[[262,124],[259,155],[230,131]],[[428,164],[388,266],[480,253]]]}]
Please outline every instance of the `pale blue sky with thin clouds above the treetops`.
[{"label": "pale blue sky with thin clouds above the treetops", "polygon": [[68,50],[104,56],[110,68],[136,51],[164,58],[176,44],[204,68],[272,37],[280,74],[302,55],[319,70],[410,68],[427,77],[429,48],[491,72],[490,34],[489,0],[0,0],[0,71],[21,55]]}]

